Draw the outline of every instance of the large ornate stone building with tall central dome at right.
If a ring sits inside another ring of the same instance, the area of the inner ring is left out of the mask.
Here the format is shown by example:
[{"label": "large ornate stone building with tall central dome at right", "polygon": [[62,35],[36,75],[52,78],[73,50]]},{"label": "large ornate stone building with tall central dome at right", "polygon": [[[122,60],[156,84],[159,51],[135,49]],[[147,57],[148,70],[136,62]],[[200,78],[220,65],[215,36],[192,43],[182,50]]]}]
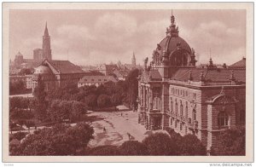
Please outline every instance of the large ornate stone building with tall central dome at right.
[{"label": "large ornate stone building with tall central dome at right", "polygon": [[175,17],[138,80],[138,123],[147,130],[195,134],[208,150],[221,130],[245,124],[246,60],[196,67],[195,49],[179,37]]}]

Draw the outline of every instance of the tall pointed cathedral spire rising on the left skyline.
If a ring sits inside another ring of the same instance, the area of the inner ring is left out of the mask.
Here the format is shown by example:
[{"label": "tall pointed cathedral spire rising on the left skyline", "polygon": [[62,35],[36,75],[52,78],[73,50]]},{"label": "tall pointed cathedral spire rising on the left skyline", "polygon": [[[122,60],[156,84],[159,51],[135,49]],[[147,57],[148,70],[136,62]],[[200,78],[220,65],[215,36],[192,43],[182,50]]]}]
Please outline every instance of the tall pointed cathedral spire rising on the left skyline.
[{"label": "tall pointed cathedral spire rising on the left skyline", "polygon": [[51,60],[51,49],[50,49],[50,36],[47,28],[47,22],[44,29],[43,36],[43,59]]}]

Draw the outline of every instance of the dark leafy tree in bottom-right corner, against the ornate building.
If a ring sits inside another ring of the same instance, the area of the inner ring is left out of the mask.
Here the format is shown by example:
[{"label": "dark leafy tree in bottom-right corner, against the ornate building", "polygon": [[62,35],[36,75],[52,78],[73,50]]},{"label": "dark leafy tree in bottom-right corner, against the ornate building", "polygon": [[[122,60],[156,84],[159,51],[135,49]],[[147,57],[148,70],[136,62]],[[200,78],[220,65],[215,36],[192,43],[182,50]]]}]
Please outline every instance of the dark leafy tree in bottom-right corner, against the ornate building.
[{"label": "dark leafy tree in bottom-right corner, against the ornate building", "polygon": [[245,135],[244,127],[221,131],[213,155],[245,155]]}]

